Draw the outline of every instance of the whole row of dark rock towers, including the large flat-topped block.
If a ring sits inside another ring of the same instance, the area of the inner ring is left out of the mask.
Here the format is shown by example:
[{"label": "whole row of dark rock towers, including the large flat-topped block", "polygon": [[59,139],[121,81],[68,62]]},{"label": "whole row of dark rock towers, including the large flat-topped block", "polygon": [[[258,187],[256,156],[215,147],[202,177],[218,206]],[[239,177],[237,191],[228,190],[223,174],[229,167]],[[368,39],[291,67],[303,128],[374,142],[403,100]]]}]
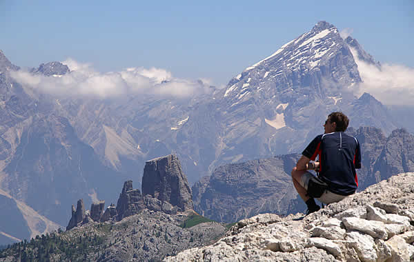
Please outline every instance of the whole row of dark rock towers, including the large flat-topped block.
[{"label": "whole row of dark rock towers, including the large flat-topped block", "polygon": [[[83,221],[82,224],[90,221],[121,221],[144,209],[166,214],[193,210],[191,190],[177,156],[170,154],[147,161],[142,180],[142,188],[146,192],[144,196],[141,191],[132,188],[132,180],[125,181],[117,206],[111,204],[103,214],[105,201],[92,203],[90,215],[86,215],[83,208],[82,216],[77,214],[78,211],[75,212],[75,207],[72,205],[72,219],[70,219],[68,229],[77,226],[81,221]],[[81,205],[83,206],[83,201]]]}]

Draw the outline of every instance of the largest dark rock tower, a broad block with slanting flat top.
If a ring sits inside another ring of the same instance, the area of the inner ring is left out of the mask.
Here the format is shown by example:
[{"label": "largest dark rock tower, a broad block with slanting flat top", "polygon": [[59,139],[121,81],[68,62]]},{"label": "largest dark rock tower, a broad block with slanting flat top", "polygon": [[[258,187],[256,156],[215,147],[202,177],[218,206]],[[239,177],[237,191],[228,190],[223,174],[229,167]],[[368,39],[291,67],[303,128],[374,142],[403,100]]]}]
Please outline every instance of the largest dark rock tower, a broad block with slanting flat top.
[{"label": "largest dark rock tower, a broad block with slanting flat top", "polygon": [[193,210],[191,188],[175,154],[146,162],[142,193],[161,203],[168,202],[181,210]]}]

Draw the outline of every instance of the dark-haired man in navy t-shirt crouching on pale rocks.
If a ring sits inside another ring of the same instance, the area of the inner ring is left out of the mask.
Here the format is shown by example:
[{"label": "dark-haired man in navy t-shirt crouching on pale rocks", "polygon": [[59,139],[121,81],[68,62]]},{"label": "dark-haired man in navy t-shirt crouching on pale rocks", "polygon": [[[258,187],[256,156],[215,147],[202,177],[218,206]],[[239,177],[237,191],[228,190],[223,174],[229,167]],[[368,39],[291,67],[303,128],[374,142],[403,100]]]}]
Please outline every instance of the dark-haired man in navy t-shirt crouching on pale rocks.
[{"label": "dark-haired man in navy t-shirt crouching on pale rocks", "polygon": [[[342,112],[329,114],[324,124],[325,133],[313,139],[292,170],[293,185],[308,206],[307,214],[320,209],[314,198],[329,204],[357,190],[355,168],[361,168],[361,151],[357,139],[344,134],[348,123],[348,117]],[[318,162],[310,162],[317,156]],[[319,177],[306,170],[318,170]]]}]

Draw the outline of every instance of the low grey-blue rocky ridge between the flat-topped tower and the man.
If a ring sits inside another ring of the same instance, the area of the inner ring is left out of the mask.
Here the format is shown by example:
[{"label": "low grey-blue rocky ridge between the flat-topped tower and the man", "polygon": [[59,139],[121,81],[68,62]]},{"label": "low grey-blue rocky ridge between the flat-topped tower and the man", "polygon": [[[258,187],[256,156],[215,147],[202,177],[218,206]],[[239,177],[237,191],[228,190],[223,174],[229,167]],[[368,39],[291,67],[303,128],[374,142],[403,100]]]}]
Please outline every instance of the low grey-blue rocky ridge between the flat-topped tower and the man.
[{"label": "low grey-blue rocky ridge between the flat-topped tower and the man", "polygon": [[290,171],[298,154],[221,165],[206,183],[193,186],[195,211],[210,219],[235,222],[255,214],[295,212]]}]

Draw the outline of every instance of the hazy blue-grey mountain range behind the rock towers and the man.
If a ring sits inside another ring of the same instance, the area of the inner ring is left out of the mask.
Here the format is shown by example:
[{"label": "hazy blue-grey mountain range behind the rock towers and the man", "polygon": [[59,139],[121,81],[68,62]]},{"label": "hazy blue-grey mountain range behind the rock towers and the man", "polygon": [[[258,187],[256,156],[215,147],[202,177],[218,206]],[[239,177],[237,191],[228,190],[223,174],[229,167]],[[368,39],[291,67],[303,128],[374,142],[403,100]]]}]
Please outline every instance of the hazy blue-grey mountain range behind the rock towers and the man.
[{"label": "hazy blue-grey mountain range behind the rock towers and the man", "polygon": [[[302,152],[333,111],[347,114],[354,130],[371,126],[384,138],[403,132],[393,130],[405,126],[400,120],[407,113],[395,113],[368,93],[355,97],[354,88],[362,83],[357,61],[381,67],[355,39],[343,39],[335,26],[321,21],[230,79],[224,89],[198,81],[207,91],[189,97],[148,92],[101,99],[31,88],[16,77],[25,70],[0,51],[0,192],[14,210],[8,221],[16,218],[27,229],[15,233],[2,227],[3,243],[46,232],[45,225],[65,225],[71,216],[67,207],[77,199],[86,205],[97,199],[115,203],[124,181],[141,180],[148,159],[172,152],[195,184],[216,168],[222,175],[232,169],[221,165]],[[51,79],[76,73],[59,62],[26,71]],[[168,88],[168,83],[159,86]],[[392,155],[370,145],[373,155],[367,163],[384,160],[373,170],[366,165],[368,180],[378,181],[384,178],[382,170],[394,172],[397,165],[384,164],[391,163]],[[412,152],[406,150],[404,156]],[[24,216],[22,205],[43,223]],[[253,213],[242,216],[247,214]]]}]

